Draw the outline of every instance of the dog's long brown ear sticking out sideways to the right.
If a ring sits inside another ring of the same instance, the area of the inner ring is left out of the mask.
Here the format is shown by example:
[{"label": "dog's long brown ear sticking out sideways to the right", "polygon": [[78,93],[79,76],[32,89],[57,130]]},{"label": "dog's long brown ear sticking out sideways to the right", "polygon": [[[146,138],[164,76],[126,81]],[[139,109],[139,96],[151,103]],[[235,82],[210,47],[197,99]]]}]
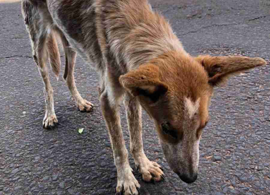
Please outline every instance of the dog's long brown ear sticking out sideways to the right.
[{"label": "dog's long brown ear sticking out sideways to the right", "polygon": [[245,56],[216,56],[199,55],[195,58],[208,72],[209,83],[220,85],[229,76],[245,72],[249,69],[266,64],[262,58],[249,58]]}]

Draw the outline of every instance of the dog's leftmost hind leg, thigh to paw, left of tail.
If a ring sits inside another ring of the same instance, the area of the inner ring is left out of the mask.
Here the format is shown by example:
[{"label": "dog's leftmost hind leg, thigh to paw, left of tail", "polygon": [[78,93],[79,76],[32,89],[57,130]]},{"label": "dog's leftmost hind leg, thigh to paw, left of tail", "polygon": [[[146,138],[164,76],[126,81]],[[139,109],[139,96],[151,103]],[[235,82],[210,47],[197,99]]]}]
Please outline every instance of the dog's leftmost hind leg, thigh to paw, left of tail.
[{"label": "dog's leftmost hind leg, thigh to paw, left of tail", "polygon": [[[22,15],[29,32],[33,57],[44,83],[46,113],[43,119],[43,127],[52,128],[58,121],[54,111],[53,90],[49,80],[48,67],[46,63],[48,61],[48,52],[50,48],[53,48],[52,45],[48,46],[48,44],[52,44],[54,42],[52,40],[54,38],[52,35],[53,32],[49,29],[49,21],[46,20],[46,22],[44,22],[43,16],[39,14],[38,9],[28,1],[22,1]],[[57,72],[57,70],[54,72]]]}]

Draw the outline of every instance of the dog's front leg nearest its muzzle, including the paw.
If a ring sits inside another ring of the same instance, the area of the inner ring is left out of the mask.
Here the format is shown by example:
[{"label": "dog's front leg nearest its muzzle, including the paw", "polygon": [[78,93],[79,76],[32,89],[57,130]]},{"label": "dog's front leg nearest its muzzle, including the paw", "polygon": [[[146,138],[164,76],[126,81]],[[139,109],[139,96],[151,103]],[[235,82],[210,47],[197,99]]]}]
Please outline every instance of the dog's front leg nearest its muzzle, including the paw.
[{"label": "dog's front leg nearest its muzzle, including the paw", "polygon": [[154,161],[149,161],[143,151],[142,109],[139,101],[130,94],[126,94],[124,102],[130,132],[130,150],[135,160],[135,166],[143,175],[144,181],[159,182],[164,178],[161,166]]}]

